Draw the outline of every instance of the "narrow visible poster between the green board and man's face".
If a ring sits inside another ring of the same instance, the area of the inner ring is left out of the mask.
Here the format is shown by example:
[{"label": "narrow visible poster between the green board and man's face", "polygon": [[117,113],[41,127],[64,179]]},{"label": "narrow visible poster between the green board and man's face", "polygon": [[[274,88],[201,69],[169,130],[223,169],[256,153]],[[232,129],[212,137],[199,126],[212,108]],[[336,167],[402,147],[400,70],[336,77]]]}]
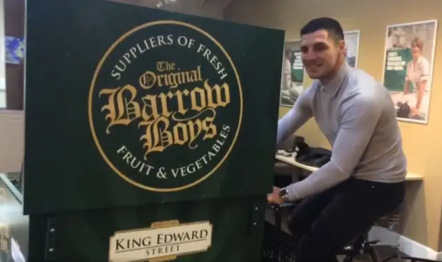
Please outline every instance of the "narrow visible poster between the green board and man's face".
[{"label": "narrow visible poster between the green board and man's face", "polygon": [[282,59],[280,106],[293,107],[304,91],[304,66],[301,61],[301,42],[287,41]]}]

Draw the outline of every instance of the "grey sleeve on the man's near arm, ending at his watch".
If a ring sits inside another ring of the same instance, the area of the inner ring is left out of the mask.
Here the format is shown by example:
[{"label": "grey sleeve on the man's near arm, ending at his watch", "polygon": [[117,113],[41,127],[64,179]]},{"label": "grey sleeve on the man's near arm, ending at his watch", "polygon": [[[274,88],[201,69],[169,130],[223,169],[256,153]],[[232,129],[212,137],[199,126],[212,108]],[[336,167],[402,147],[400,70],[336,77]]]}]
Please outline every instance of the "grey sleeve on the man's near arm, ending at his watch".
[{"label": "grey sleeve on the man's near arm, ending at his watch", "polygon": [[372,138],[381,111],[382,106],[376,105],[376,97],[358,94],[344,103],[332,159],[305,180],[289,185],[289,200],[318,194],[349,178]]}]

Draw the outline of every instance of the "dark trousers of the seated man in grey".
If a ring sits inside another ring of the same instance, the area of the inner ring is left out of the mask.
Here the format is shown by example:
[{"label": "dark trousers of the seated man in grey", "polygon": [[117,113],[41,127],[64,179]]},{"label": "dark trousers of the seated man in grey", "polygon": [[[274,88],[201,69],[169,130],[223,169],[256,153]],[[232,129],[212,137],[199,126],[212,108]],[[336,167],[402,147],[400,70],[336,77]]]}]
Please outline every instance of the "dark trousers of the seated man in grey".
[{"label": "dark trousers of the seated man in grey", "polygon": [[403,202],[405,182],[349,178],[302,200],[289,219],[296,262],[334,262],[336,254]]}]

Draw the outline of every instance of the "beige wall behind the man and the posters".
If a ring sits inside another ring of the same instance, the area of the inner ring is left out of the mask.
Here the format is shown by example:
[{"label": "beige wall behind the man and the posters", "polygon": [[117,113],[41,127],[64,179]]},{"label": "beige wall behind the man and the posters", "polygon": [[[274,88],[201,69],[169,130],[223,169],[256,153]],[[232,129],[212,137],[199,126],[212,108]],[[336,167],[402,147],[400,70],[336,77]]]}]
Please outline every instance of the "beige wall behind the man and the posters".
[{"label": "beige wall behind the man and the posters", "polygon": [[[299,39],[299,30],[309,19],[334,17],[344,30],[361,30],[358,65],[381,80],[385,27],[389,24],[403,24],[413,21],[439,19],[442,21],[442,1],[422,0],[235,0],[225,10],[225,19],[246,24],[280,28],[286,30],[286,39]],[[434,72],[442,70],[442,34],[436,42]],[[261,39],[266,41],[266,39]],[[257,43],[259,44],[259,43]],[[306,84],[311,81],[307,79]],[[407,218],[403,234],[434,250],[439,249],[441,240],[442,206],[442,75],[434,74],[430,122],[427,126],[401,123],[404,147],[409,169],[425,176],[423,187],[419,183],[408,186]],[[275,86],[278,91],[278,86]],[[280,109],[280,116],[287,109]],[[320,134],[316,123],[311,120],[298,131],[307,142],[321,147],[329,147]],[[441,244],[442,245],[442,244]]]}]

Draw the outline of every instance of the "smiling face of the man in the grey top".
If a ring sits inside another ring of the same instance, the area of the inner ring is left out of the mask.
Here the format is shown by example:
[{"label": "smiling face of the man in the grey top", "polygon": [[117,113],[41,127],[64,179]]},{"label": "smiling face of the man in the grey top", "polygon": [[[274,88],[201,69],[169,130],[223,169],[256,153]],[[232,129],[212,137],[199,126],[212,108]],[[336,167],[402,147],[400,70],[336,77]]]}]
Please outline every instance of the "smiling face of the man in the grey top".
[{"label": "smiling face of the man in the grey top", "polygon": [[340,55],[345,55],[345,42],[336,42],[327,30],[318,30],[301,38],[301,59],[311,79],[327,77],[334,71]]}]

